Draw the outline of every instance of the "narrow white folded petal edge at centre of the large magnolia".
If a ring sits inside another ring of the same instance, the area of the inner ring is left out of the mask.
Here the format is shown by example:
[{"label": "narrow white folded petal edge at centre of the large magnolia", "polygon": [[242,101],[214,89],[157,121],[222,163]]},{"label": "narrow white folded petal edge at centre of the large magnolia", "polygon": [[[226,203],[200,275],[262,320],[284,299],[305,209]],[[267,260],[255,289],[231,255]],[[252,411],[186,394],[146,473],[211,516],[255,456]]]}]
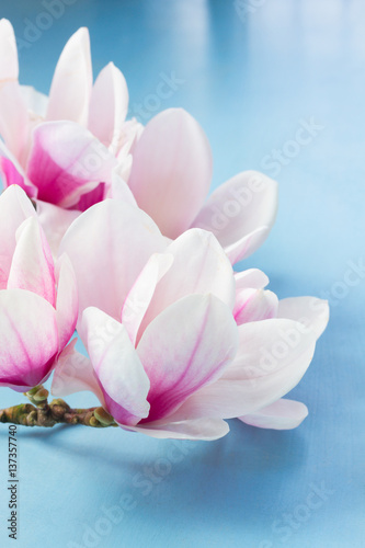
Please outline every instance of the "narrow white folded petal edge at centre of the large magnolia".
[{"label": "narrow white folded petal edge at centre of the large magnolia", "polygon": [[133,344],[136,343],[140,323],[153,297],[156,286],[169,271],[172,263],[172,254],[155,253],[139,274],[124,301],[122,323],[126,328]]}]

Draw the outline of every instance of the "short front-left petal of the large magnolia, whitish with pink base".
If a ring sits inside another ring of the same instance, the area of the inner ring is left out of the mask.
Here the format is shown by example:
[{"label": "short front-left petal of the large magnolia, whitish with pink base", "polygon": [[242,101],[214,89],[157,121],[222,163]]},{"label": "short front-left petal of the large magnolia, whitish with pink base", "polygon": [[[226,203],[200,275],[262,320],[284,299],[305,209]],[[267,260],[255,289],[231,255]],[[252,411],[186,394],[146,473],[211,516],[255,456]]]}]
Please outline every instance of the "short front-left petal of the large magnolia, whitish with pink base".
[{"label": "short front-left petal of the large magnolia, whitish with pink base", "polygon": [[121,424],[137,424],[148,415],[149,380],[126,329],[91,307],[83,312],[81,336],[109,412]]}]

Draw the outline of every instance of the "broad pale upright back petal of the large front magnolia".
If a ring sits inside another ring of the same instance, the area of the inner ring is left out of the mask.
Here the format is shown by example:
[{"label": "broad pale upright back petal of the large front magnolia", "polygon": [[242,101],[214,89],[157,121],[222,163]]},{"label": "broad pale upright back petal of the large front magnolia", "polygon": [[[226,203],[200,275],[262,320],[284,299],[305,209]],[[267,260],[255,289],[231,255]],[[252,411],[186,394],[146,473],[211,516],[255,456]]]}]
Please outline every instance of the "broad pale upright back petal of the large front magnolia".
[{"label": "broad pale upright back petal of the large front magnolia", "polygon": [[82,214],[66,232],[66,252],[78,281],[80,312],[94,306],[121,319],[122,307],[137,276],[166,242],[144,212],[106,199]]}]

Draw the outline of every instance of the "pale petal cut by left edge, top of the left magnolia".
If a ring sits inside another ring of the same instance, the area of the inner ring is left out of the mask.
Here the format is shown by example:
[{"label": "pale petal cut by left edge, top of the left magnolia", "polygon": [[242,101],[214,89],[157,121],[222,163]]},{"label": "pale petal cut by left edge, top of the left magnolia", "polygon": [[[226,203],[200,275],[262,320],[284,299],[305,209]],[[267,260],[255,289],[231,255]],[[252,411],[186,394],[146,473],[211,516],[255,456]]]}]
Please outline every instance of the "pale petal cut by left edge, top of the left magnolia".
[{"label": "pale petal cut by left edge, top of the left magnolia", "polygon": [[0,196],[0,289],[8,285],[11,261],[16,246],[15,233],[28,217],[35,217],[34,207],[19,186],[10,186]]}]

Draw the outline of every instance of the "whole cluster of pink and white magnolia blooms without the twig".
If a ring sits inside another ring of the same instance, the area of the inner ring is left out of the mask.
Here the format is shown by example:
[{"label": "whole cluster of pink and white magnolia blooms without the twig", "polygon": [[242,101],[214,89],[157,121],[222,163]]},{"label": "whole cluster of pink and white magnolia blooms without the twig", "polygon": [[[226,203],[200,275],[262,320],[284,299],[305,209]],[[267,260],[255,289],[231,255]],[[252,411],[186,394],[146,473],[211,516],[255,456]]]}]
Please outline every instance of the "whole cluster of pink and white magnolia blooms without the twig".
[{"label": "whole cluster of pink and white magnolia blooms without the twig", "polygon": [[[49,96],[20,85],[0,22],[0,386],[90,390],[125,430],[216,439],[226,419],[292,429],[327,302],[235,273],[274,222],[277,185],[239,173],[206,198],[212,153],[181,109],[127,121],[122,72],[92,79],[79,30]],[[88,356],[69,343],[75,328]],[[69,344],[68,344],[69,343]]]}]

